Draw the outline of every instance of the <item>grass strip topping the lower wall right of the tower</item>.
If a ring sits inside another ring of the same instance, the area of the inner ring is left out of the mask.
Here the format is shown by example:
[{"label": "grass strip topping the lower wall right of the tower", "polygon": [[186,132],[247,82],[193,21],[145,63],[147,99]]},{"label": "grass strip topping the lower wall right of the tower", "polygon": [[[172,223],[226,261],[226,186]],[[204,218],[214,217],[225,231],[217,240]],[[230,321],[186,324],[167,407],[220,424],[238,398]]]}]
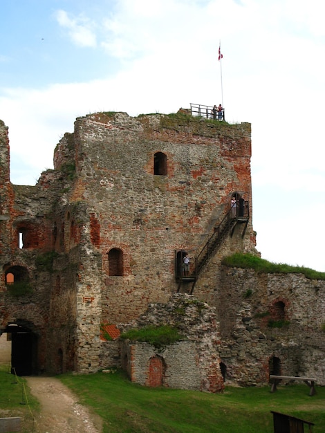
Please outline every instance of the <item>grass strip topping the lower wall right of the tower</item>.
[{"label": "grass strip topping the lower wall right of the tower", "polygon": [[224,257],[222,264],[232,268],[252,268],[258,273],[266,274],[303,274],[309,279],[325,279],[325,272],[318,272],[304,266],[290,266],[283,263],[273,263],[261,257],[252,254],[242,254],[236,252],[235,254]]}]

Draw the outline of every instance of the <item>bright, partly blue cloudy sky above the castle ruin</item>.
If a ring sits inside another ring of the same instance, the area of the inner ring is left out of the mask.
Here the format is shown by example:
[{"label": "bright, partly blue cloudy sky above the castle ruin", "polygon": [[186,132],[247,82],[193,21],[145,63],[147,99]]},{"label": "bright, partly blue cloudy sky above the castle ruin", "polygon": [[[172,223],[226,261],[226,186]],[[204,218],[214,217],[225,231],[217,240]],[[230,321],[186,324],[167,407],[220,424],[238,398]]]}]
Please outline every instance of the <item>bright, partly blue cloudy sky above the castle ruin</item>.
[{"label": "bright, partly blue cloudy sky above the castle ruin", "polygon": [[[10,180],[35,185],[78,116],[223,104],[252,124],[261,257],[325,272],[321,0],[1,0]],[[223,58],[218,59],[219,45]]]}]

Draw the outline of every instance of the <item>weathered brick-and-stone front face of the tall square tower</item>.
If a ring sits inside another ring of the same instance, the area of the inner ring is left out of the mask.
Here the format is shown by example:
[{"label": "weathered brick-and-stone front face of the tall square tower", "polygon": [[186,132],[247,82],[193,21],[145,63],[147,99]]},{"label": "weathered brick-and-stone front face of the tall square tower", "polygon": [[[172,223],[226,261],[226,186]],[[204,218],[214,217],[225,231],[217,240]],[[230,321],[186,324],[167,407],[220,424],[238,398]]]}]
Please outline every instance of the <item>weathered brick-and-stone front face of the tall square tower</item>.
[{"label": "weathered brick-and-stone front face of the tall square tower", "polygon": [[[250,125],[220,124],[126,113],[76,120],[77,181],[70,197],[87,203],[87,230],[92,247],[102,254],[103,322],[131,320],[149,302],[167,302],[177,289],[175,250],[189,250],[193,259],[228,210],[234,191],[245,193],[251,203]],[[154,172],[158,152],[167,157],[165,175]],[[240,234],[231,243],[234,239]],[[254,246],[249,223],[236,249]],[[110,271],[112,249],[122,256],[121,275]],[[210,301],[213,291],[204,290]]]}]

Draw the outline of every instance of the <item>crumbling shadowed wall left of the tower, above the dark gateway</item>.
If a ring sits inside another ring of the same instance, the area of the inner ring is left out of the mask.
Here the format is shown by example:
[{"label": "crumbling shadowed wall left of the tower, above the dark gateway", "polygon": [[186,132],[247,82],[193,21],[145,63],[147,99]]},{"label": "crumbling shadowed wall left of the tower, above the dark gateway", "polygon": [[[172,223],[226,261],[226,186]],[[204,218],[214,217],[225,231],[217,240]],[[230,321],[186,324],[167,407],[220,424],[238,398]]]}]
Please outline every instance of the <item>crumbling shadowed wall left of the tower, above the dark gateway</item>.
[{"label": "crumbling shadowed wall left of the tower, above the dark gateway", "polygon": [[0,332],[23,326],[31,333],[34,374],[73,370],[75,271],[71,273],[64,242],[55,241],[64,226],[60,206],[66,205],[62,194],[70,179],[59,170],[47,170],[35,186],[12,185],[3,122],[0,165]]}]

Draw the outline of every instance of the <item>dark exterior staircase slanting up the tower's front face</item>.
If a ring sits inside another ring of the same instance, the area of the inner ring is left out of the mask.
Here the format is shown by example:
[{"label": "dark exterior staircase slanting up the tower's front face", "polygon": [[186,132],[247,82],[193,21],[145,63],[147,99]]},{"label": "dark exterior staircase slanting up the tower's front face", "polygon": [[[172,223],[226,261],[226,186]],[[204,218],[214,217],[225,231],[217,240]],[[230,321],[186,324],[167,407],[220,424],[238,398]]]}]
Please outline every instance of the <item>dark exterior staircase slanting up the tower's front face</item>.
[{"label": "dark exterior staircase slanting up the tower's front face", "polygon": [[[180,287],[183,282],[192,282],[190,293],[193,293],[198,277],[201,275],[210,259],[216,254],[216,251],[220,248],[223,241],[225,241],[225,238],[228,236],[228,234],[230,234],[230,237],[232,237],[236,225],[239,223],[244,223],[243,232],[241,234],[241,237],[244,237],[248,220],[248,201],[245,201],[245,212],[242,215],[239,215],[239,208],[236,208],[236,214],[232,214],[231,209],[227,212],[227,214],[225,214],[221,223],[214,228],[214,232],[210,238],[207,239],[207,242],[198,255],[196,255],[194,259],[194,266],[192,266],[189,275],[176,275],[176,280],[178,280],[178,292],[180,291]],[[176,268],[179,269],[179,266],[176,266]]]}]

